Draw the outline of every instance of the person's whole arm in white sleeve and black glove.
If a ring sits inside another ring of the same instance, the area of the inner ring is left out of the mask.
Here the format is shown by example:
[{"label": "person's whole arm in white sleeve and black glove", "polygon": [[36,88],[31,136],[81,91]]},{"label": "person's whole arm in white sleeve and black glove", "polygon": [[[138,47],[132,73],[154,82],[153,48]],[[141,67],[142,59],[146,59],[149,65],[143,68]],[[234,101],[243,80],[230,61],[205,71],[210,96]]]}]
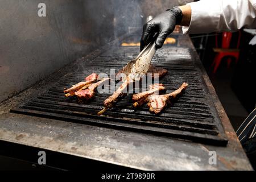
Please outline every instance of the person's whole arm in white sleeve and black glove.
[{"label": "person's whole arm in white sleeve and black glove", "polygon": [[158,33],[156,47],[161,48],[176,24],[183,26],[184,34],[255,28],[256,0],[201,0],[172,7],[144,24],[141,50],[152,41],[155,33]]}]

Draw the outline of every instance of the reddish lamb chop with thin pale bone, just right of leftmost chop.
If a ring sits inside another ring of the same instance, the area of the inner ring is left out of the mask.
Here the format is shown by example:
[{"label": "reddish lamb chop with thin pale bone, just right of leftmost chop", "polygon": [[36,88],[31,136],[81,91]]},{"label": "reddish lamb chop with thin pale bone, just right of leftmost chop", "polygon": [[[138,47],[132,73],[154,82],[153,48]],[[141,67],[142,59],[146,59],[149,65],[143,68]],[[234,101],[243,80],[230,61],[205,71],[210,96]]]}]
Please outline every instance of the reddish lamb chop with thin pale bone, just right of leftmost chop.
[{"label": "reddish lamb chop with thin pale bone, just right of leftmost chop", "polygon": [[108,81],[110,78],[102,78],[101,81],[98,81],[92,85],[90,85],[88,87],[88,89],[85,89],[85,90],[79,90],[77,92],[75,92],[75,95],[77,96],[78,98],[78,101],[81,103],[81,102],[84,102],[84,101],[88,101],[88,100],[92,100],[95,95],[96,95],[96,88],[104,83],[105,81]]}]

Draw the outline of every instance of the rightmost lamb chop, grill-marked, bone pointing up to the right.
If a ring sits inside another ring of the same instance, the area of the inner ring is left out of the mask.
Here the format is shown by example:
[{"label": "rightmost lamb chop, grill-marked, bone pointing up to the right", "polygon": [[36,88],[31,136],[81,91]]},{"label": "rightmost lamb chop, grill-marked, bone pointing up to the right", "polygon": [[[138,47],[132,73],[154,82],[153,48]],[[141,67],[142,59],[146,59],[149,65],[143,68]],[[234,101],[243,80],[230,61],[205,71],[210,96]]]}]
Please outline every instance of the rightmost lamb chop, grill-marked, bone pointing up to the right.
[{"label": "rightmost lamb chop, grill-marked, bone pointing up to the right", "polygon": [[164,107],[166,107],[167,104],[170,103],[170,100],[179,96],[187,88],[187,86],[188,84],[184,82],[179,89],[175,90],[172,93],[164,95],[152,94],[148,98],[149,102],[147,106],[150,107],[150,111],[152,113],[159,114],[164,109]]}]

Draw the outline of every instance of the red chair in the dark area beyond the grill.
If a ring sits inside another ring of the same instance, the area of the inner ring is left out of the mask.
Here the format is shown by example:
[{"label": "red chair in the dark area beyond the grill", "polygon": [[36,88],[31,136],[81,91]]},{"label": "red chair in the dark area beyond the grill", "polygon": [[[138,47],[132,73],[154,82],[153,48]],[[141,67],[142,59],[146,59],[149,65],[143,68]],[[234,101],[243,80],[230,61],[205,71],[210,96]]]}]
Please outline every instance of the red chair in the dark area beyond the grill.
[{"label": "red chair in the dark area beyond the grill", "polygon": [[238,41],[237,41],[237,48],[230,48],[230,41],[232,39],[232,32],[223,32],[222,33],[222,44],[221,44],[221,48],[218,48],[218,36],[216,34],[215,37],[215,43],[216,43],[216,48],[213,48],[214,52],[217,52],[216,56],[214,57],[213,63],[212,63],[212,67],[213,68],[213,73],[216,73],[218,66],[221,63],[221,60],[223,57],[228,56],[227,62],[228,62],[228,68],[230,66],[230,63],[232,61],[232,57],[235,58],[236,60],[236,64],[238,61],[238,57],[239,57],[239,46],[240,46],[240,38],[241,38],[241,32],[239,31],[239,35],[238,35]]}]

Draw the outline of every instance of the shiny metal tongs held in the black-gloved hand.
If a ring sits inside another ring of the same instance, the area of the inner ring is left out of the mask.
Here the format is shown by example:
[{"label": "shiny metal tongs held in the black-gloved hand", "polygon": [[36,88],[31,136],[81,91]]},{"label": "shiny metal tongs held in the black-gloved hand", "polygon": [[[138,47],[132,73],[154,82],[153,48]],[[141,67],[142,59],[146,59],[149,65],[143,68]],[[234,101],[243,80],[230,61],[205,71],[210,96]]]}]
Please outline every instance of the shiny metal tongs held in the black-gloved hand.
[{"label": "shiny metal tongs held in the black-gloved hand", "polygon": [[145,75],[150,68],[150,63],[152,57],[155,55],[156,49],[154,39],[154,41],[144,47],[134,60],[129,61],[129,63],[123,67],[122,73],[125,73],[127,76],[131,75],[133,78],[140,78]]}]

